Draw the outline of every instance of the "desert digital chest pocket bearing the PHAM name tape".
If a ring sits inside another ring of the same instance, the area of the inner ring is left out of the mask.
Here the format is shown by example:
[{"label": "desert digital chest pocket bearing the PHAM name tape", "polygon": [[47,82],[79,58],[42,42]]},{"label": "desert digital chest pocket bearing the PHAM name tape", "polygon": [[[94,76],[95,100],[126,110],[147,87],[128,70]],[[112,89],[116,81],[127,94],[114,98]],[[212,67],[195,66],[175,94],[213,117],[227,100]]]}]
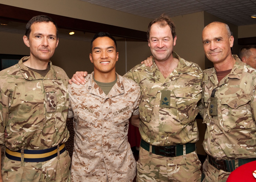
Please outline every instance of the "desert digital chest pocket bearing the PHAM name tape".
[{"label": "desert digital chest pocket bearing the PHAM name tape", "polygon": [[99,116],[96,116],[82,108],[77,109],[77,115],[77,122],[75,122],[76,131],[87,141],[93,129],[97,127],[95,124]]}]

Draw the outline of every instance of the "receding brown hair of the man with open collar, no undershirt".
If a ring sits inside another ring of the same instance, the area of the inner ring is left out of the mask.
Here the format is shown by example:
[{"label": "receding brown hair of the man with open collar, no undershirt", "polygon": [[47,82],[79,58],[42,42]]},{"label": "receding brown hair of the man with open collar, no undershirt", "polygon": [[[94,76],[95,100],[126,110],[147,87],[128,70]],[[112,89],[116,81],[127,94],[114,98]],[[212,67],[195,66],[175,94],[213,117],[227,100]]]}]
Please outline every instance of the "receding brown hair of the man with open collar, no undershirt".
[{"label": "receding brown hair of the man with open collar, no undershirt", "polygon": [[148,24],[148,28],[147,28],[147,39],[148,40],[149,40],[149,33],[150,33],[151,26],[154,23],[157,23],[160,27],[165,27],[166,25],[168,25],[170,27],[171,31],[172,31],[173,39],[175,38],[175,36],[176,36],[175,24],[174,24],[173,20],[169,16],[167,16],[165,13],[163,13],[161,16],[159,16],[158,18],[154,19],[153,21],[151,21]]}]

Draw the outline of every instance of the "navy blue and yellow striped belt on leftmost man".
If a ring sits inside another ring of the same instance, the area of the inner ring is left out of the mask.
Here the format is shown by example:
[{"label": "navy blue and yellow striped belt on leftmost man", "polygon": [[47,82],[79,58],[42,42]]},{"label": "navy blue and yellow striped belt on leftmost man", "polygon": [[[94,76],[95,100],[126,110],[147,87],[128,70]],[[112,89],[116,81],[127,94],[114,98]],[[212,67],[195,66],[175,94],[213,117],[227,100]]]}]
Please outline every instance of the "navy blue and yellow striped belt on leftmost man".
[{"label": "navy blue and yellow striped belt on leftmost man", "polygon": [[[65,143],[59,145],[60,154],[66,150]],[[12,151],[5,148],[8,159],[21,161],[21,150]],[[24,162],[45,162],[58,156],[58,146],[44,150],[24,150]]]}]

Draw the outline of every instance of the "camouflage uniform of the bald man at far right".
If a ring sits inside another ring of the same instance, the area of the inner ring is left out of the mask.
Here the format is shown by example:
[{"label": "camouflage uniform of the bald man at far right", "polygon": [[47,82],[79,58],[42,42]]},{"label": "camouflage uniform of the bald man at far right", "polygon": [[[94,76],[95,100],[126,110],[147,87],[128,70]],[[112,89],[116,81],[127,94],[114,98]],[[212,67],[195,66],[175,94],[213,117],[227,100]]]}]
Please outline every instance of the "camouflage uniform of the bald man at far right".
[{"label": "camouflage uniform of the bald man at far right", "polygon": [[[218,82],[214,68],[204,71],[204,108],[199,107],[207,124],[203,142],[206,153],[215,159],[256,158],[256,72],[237,55],[231,72]],[[217,116],[210,115],[210,97],[216,89]],[[235,162],[238,167],[238,160]],[[226,181],[229,172],[218,170],[208,160],[203,165],[205,181]]]}]

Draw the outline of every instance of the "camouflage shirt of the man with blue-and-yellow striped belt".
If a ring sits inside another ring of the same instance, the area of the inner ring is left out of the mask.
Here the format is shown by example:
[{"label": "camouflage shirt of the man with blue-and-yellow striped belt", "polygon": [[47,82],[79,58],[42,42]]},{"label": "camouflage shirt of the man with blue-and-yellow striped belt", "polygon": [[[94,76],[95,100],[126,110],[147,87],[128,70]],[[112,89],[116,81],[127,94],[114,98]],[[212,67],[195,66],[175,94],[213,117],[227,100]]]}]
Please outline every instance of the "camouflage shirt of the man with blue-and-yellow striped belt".
[{"label": "camouflage shirt of the man with blue-and-yellow striped belt", "polygon": [[69,137],[68,76],[50,62],[42,77],[23,64],[28,59],[0,72],[0,144],[10,150],[51,148]]}]

